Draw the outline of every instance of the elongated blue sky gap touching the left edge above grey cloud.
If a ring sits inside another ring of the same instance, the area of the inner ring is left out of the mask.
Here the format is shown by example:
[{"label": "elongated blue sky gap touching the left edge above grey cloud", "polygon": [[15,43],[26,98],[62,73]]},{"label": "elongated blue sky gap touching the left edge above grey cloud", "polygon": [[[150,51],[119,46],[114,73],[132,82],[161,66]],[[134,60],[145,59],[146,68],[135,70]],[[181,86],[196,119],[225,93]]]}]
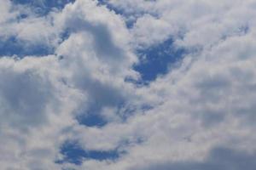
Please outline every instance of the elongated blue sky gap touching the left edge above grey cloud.
[{"label": "elongated blue sky gap touching the left edge above grey cloud", "polygon": [[0,40],[0,56],[17,55],[22,58],[26,55],[43,56],[53,53],[54,49],[45,44],[26,44],[26,42],[22,42],[16,37]]}]

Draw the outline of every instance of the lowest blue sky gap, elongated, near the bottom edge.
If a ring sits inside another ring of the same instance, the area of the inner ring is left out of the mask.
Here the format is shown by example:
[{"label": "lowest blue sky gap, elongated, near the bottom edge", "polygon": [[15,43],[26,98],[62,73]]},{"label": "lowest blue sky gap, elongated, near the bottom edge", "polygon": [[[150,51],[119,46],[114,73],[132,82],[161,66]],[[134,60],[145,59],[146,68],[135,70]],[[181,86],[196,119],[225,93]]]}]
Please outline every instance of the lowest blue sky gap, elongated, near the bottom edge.
[{"label": "lowest blue sky gap, elongated, near the bottom edge", "polygon": [[65,162],[81,165],[84,160],[114,161],[119,158],[121,153],[118,150],[84,150],[77,142],[66,142],[61,146],[61,160],[55,163],[62,164]]}]

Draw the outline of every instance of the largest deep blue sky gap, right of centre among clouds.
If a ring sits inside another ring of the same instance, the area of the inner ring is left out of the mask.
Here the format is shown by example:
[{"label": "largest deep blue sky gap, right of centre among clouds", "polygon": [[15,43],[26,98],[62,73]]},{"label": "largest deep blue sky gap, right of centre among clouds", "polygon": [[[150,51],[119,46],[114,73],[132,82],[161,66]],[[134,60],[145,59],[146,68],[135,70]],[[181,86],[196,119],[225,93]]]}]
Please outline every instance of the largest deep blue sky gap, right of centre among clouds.
[{"label": "largest deep blue sky gap, right of centre among clouds", "polygon": [[172,38],[154,45],[149,48],[137,49],[137,54],[140,62],[134,65],[134,70],[139,72],[142,77],[142,82],[148,83],[156,79],[160,75],[165,75],[170,65],[177,63],[183,59],[184,49],[177,49],[173,47]]}]

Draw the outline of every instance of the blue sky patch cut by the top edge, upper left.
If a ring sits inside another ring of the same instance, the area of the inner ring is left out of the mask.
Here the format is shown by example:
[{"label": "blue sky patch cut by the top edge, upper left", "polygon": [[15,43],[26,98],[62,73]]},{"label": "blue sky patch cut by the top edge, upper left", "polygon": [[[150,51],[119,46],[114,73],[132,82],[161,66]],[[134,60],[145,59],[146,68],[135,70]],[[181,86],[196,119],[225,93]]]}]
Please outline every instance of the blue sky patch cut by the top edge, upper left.
[{"label": "blue sky patch cut by the top edge, upper left", "polygon": [[12,0],[17,4],[28,5],[33,8],[37,14],[48,14],[53,8],[64,8],[67,3],[73,3],[75,0]]}]

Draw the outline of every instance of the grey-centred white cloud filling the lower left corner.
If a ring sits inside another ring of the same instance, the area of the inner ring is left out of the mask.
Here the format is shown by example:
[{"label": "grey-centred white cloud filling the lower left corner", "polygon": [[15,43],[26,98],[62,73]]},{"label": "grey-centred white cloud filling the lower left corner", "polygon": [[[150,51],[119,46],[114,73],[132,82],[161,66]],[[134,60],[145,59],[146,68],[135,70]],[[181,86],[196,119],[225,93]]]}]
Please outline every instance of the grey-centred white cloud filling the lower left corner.
[{"label": "grey-centred white cloud filling the lower left corner", "polygon": [[55,56],[0,60],[1,167],[56,168],[61,129],[73,124],[79,93],[61,83]]}]

